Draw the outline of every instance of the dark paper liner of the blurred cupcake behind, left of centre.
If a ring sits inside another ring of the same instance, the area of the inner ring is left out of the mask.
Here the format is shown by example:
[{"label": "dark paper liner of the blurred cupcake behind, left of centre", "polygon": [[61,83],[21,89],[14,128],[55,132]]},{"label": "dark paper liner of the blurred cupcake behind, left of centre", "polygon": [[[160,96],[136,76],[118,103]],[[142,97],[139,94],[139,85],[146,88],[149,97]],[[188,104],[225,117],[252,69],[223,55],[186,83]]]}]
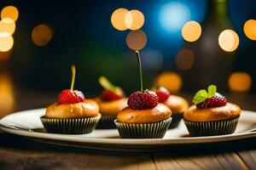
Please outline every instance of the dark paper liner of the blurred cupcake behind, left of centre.
[{"label": "dark paper liner of the blurred cupcake behind, left of centre", "polygon": [[115,119],[116,116],[102,115],[100,121],[96,126],[96,129],[116,128],[113,122]]}]

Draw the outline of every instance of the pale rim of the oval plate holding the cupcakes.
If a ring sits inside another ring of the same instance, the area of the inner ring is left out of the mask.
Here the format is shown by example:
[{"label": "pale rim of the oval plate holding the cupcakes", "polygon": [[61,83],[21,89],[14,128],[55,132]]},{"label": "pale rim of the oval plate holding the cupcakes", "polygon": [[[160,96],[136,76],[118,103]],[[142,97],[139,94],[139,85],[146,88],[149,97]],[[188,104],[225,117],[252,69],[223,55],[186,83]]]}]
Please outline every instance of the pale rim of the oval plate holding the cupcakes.
[{"label": "pale rim of the oval plate holding the cupcakes", "polygon": [[[8,116],[14,116],[22,114],[27,111],[42,111],[45,108],[26,110],[26,111],[17,111],[15,113],[3,116],[6,118]],[[256,111],[244,111],[246,114],[253,114],[251,112]],[[256,116],[256,115],[255,115]],[[3,120],[3,118],[0,120]],[[125,144],[125,145],[166,145],[166,144],[207,144],[207,143],[217,143],[232,141],[238,139],[248,139],[256,137],[256,132],[250,133],[233,133],[227,135],[218,135],[218,136],[205,136],[205,137],[184,137],[184,138],[172,138],[172,139],[99,139],[99,138],[84,138],[78,135],[65,135],[65,134],[56,134],[56,133],[39,133],[39,132],[29,132],[21,129],[13,129],[10,127],[5,127],[0,124],[0,128],[8,133],[14,133],[20,136],[31,137],[35,139],[54,139],[58,141],[67,141],[67,142],[79,142],[84,144]],[[57,138],[56,138],[57,137]]]}]

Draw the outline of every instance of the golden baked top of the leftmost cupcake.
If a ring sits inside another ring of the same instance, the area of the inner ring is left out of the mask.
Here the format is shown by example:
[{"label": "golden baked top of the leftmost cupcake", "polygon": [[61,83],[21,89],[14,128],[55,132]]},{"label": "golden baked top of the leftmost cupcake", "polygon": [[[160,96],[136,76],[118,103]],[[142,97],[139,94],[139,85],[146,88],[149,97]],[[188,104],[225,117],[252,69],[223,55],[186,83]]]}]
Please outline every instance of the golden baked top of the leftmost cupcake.
[{"label": "golden baked top of the leftmost cupcake", "polygon": [[99,106],[92,99],[84,99],[84,102],[69,105],[49,105],[46,108],[47,118],[82,118],[99,115]]}]

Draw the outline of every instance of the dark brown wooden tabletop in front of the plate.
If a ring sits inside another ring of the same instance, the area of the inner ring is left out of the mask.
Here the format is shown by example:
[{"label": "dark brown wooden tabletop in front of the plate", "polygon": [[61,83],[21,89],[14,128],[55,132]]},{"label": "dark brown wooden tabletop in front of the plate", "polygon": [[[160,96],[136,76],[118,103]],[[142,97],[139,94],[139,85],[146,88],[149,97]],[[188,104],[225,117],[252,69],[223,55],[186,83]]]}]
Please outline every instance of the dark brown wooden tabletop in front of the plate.
[{"label": "dark brown wooden tabletop in front of the plate", "polygon": [[[242,144],[246,145],[246,144]],[[129,153],[84,150],[0,135],[0,169],[253,169],[256,150]]]}]

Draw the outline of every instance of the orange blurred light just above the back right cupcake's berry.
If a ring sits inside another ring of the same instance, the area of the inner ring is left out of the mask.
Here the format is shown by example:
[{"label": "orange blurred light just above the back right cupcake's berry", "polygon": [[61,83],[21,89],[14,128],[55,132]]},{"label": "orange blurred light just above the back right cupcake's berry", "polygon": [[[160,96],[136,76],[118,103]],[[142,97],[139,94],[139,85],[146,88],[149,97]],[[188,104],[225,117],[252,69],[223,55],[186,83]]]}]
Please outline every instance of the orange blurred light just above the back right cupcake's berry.
[{"label": "orange blurred light just above the back right cupcake's berry", "polygon": [[182,78],[173,71],[166,71],[156,79],[156,85],[167,88],[171,93],[177,92],[183,85]]}]

